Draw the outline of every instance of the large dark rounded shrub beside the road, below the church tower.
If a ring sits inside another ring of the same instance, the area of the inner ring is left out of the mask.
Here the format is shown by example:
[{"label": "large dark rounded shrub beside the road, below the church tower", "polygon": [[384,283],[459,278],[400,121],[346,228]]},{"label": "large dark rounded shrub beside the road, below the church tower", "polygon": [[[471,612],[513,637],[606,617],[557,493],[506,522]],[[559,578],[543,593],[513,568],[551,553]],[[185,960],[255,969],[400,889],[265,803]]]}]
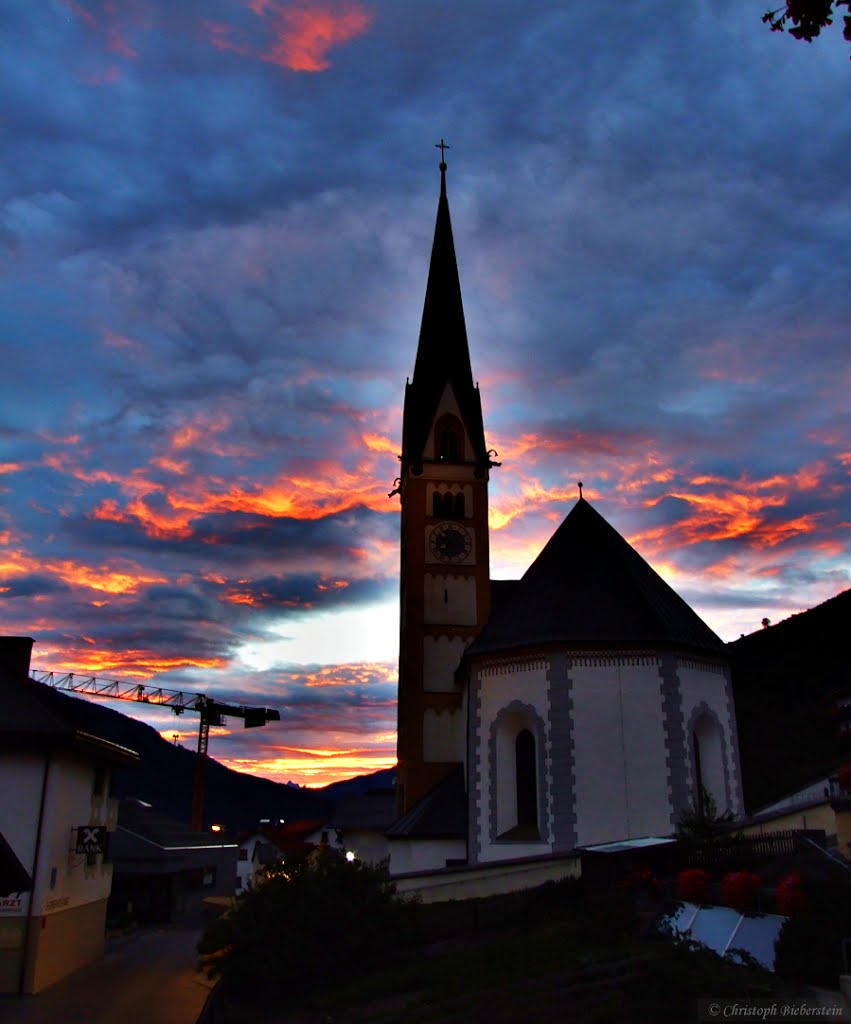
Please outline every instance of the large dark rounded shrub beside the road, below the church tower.
[{"label": "large dark rounded shrub beside the road, below the church tower", "polygon": [[227,994],[288,1002],[386,963],[412,941],[412,913],[386,867],[327,850],[278,864],[198,948]]}]

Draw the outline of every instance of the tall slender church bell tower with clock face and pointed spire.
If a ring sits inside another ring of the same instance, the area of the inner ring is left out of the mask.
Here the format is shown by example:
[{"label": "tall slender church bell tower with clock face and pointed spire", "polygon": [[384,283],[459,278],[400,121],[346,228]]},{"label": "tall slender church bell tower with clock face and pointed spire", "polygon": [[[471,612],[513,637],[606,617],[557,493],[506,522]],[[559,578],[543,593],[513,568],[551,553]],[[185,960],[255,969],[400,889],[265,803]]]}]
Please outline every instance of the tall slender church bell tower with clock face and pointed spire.
[{"label": "tall slender church bell tower with clock face and pointed spire", "polygon": [[491,608],[492,463],[470,368],[442,160],[414,379],[405,391],[400,458],[396,784],[403,813],[464,760],[466,718],[456,669]]}]

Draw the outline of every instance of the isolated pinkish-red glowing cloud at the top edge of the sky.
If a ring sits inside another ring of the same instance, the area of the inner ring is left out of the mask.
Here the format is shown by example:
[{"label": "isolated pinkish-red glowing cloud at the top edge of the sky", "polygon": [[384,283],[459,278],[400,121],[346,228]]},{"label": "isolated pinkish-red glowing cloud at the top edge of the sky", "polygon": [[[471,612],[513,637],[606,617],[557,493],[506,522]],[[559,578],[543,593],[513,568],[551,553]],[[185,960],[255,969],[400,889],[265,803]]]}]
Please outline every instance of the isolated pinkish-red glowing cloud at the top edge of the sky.
[{"label": "isolated pinkish-red glowing cloud at the top edge of the sky", "polygon": [[275,41],[260,55],[264,60],[290,71],[327,71],[329,50],[363,36],[373,15],[360,4],[289,6],[283,3],[255,4],[258,14],[272,12]]}]

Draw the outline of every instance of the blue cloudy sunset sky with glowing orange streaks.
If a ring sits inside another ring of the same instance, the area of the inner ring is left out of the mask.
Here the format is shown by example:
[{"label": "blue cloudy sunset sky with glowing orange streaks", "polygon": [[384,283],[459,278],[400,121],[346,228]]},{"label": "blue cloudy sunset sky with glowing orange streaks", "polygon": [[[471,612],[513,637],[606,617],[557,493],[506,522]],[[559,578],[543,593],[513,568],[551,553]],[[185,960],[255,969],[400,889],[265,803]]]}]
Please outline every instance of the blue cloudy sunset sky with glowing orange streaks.
[{"label": "blue cloudy sunset sky with glowing orange streaks", "polygon": [[[764,0],[4,0],[0,630],[395,761],[445,139],[492,575],[585,497],[724,639],[851,586],[851,82]],[[197,720],[116,705],[192,745]]]}]

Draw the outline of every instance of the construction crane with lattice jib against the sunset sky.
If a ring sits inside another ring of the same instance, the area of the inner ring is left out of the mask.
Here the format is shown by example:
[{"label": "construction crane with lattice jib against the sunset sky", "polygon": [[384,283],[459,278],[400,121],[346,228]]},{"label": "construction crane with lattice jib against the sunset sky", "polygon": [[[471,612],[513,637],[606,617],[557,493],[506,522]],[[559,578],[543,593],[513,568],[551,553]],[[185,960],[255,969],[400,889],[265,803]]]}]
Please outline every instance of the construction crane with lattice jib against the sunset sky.
[{"label": "construction crane with lattice jib against the sunset sky", "polygon": [[145,686],[143,683],[121,683],[118,680],[97,679],[94,676],[78,676],[73,672],[43,672],[33,669],[30,673],[39,683],[45,683],[57,690],[84,693],[86,696],[105,697],[111,700],[137,700],[146,705],[170,708],[175,715],[185,711],[198,712],[198,755],[195,763],[193,782],[193,828],[204,827],[204,801],[207,795],[207,746],[210,742],[210,726],[223,725],[225,717],[241,718],[246,729],[254,729],[267,722],[280,722],[281,712],[273,708],[249,708],[245,705],[226,705],[208,697],[206,693],[189,690],[168,690],[162,686]]}]

